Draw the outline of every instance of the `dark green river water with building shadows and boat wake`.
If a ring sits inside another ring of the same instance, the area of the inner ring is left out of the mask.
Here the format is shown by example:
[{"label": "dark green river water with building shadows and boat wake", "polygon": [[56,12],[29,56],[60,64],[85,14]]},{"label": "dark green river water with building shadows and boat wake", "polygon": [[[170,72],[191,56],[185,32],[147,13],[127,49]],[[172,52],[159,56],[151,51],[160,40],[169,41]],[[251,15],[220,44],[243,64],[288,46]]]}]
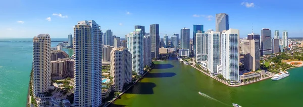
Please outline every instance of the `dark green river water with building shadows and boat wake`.
[{"label": "dark green river water with building shadows and boat wake", "polygon": [[155,63],[111,106],[303,106],[303,67],[288,70],[290,76],[278,81],[228,87],[175,58]]}]

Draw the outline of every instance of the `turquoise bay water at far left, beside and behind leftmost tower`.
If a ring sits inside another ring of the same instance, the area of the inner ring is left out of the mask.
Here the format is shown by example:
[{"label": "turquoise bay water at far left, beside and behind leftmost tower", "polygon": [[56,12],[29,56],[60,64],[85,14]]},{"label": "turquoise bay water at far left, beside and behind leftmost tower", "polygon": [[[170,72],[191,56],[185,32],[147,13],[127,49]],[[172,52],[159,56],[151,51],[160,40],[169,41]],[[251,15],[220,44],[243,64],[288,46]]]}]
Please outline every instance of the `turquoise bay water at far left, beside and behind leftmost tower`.
[{"label": "turquoise bay water at far left, beside and behind leftmost tower", "polygon": [[[32,41],[32,39],[0,39]],[[67,40],[67,38],[52,38]],[[55,47],[58,42],[52,43]],[[72,55],[73,51],[63,49]],[[32,66],[32,43],[0,42],[0,106],[25,106]]]}]

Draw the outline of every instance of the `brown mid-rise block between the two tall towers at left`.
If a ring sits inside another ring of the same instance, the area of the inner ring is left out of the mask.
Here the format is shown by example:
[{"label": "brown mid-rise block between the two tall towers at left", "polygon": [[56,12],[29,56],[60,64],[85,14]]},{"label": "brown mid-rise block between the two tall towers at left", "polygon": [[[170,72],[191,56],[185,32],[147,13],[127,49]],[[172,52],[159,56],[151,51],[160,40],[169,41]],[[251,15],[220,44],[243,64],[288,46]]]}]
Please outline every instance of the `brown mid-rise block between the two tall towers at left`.
[{"label": "brown mid-rise block between the two tall towers at left", "polygon": [[51,61],[51,77],[52,79],[64,79],[74,76],[74,60],[69,58],[59,58]]}]

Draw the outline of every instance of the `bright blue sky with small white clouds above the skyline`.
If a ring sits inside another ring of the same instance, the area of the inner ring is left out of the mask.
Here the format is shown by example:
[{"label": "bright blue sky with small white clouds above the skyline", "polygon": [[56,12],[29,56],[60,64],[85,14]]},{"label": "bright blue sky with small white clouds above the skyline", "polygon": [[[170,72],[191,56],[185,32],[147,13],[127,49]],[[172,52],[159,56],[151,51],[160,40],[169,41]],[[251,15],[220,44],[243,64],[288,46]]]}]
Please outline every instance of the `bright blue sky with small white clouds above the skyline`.
[{"label": "bright blue sky with small white clouds above the skyline", "polygon": [[[159,24],[160,37],[180,33],[186,27],[203,24],[215,29],[215,15],[227,13],[229,28],[239,29],[240,37],[260,34],[262,28],[288,30],[289,37],[303,37],[302,1],[273,0],[99,0],[99,1],[2,1],[0,38],[32,38],[48,33],[52,38],[67,38],[78,21],[94,20],[102,32],[108,29],[119,37],[134,30],[134,25]],[[47,20],[48,18],[48,20]],[[49,20],[50,19],[50,20]],[[280,36],[281,37],[281,36]]]}]

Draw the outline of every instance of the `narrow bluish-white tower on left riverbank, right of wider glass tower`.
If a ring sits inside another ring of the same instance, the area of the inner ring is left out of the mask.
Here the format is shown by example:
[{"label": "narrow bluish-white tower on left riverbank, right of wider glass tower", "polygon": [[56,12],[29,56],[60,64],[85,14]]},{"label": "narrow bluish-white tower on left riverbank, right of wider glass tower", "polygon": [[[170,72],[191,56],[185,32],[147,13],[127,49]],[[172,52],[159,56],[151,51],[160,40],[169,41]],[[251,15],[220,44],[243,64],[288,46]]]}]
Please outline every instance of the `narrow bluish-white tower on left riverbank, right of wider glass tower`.
[{"label": "narrow bluish-white tower on left riverbank, right of wider glass tower", "polygon": [[145,67],[151,65],[151,42],[150,36],[145,35],[143,37],[143,66]]}]

